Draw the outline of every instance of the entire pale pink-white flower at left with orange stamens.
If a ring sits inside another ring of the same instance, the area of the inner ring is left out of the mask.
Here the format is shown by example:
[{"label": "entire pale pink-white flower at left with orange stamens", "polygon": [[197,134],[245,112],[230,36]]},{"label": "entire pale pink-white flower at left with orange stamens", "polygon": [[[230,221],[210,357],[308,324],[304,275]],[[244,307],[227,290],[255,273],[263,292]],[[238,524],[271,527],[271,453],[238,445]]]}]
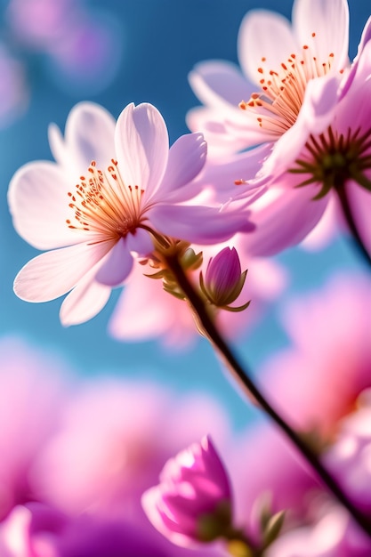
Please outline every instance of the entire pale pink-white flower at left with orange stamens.
[{"label": "entire pale pink-white flower at left with orange stamens", "polygon": [[253,228],[230,207],[181,204],[194,195],[185,186],[205,163],[206,142],[191,133],[169,150],[164,119],[148,103],[129,104],[116,125],[100,106],[80,103],[65,141],[53,127],[51,144],[57,163],[24,165],[10,184],[16,230],[51,250],[20,270],[14,290],[29,302],[71,291],[60,309],[63,323],[101,311],[111,288],[130,274],[133,257],[153,252],[156,236],[213,244],[239,227]]}]

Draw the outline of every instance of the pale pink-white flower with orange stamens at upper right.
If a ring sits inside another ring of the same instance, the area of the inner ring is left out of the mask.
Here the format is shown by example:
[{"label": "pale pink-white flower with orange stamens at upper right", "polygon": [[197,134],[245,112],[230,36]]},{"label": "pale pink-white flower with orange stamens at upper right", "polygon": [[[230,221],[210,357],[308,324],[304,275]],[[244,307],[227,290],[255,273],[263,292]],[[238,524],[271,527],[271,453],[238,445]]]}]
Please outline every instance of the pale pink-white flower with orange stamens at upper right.
[{"label": "pale pink-white flower with orange stamens at upper right", "polygon": [[224,152],[290,144],[293,134],[302,135],[294,129],[303,122],[310,126],[304,142],[320,133],[329,108],[324,100],[334,91],[335,74],[348,65],[348,27],[346,0],[295,0],[292,28],[278,13],[247,12],[238,34],[247,79],[227,62],[198,64],[190,85],[206,107],[190,111],[190,129],[203,130],[210,147]]}]

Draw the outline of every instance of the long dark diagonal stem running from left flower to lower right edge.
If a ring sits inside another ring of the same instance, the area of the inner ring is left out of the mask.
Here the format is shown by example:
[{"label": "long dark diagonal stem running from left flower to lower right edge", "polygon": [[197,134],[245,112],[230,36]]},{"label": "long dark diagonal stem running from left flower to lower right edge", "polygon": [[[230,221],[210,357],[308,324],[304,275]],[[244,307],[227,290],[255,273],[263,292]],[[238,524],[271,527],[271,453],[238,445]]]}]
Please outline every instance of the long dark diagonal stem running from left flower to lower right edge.
[{"label": "long dark diagonal stem running from left flower to lower right edge", "polygon": [[270,406],[270,402],[265,398],[259,388],[254,384],[246,370],[239,364],[238,359],[230,350],[229,345],[224,341],[220,335],[217,327],[214,325],[213,319],[210,317],[206,310],[203,300],[199,297],[197,291],[192,287],[186,274],[181,268],[176,255],[166,257],[168,267],[173,272],[181,290],[187,297],[193,311],[196,312],[199,323],[202,325],[210,342],[214,345],[216,351],[222,356],[231,375],[237,380],[243,392],[250,400],[254,400],[270,418],[275,422],[282,432],[294,443],[297,450],[304,456],[311,467],[317,472],[319,478],[327,486],[328,490],[332,492],[335,498],[341,503],[351,514],[354,521],[359,524],[359,527],[366,532],[368,537],[371,537],[371,521],[359,509],[353,505],[343,492],[341,486],[338,485],[333,476],[327,472],[327,469],[319,461],[319,457],[311,450],[311,448],[301,439],[301,437],[294,432],[294,430],[286,424],[285,420],[279,416],[278,412]]}]

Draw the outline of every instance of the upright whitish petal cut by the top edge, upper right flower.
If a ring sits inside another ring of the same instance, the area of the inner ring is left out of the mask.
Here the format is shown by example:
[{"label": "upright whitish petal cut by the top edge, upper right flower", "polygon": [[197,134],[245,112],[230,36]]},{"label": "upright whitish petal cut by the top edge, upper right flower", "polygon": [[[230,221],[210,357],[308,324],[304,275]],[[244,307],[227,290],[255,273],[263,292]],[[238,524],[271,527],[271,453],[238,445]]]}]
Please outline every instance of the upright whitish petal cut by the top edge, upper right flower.
[{"label": "upright whitish petal cut by the top edge, upper right flower", "polygon": [[349,44],[346,0],[297,0],[293,7],[293,27],[299,46],[308,44],[320,63],[327,62],[333,53],[333,68],[346,67]]}]

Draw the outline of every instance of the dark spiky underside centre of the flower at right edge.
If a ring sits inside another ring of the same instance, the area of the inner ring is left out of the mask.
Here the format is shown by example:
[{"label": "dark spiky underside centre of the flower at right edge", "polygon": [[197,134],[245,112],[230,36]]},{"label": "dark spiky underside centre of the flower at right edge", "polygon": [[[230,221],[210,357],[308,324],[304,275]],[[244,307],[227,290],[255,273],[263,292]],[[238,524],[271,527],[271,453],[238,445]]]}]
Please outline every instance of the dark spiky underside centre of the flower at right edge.
[{"label": "dark spiky underside centre of the flower at right edge", "polygon": [[336,133],[331,126],[318,137],[310,136],[302,158],[295,161],[292,174],[303,174],[304,180],[297,188],[320,183],[322,188],[314,199],[320,199],[335,188],[340,190],[345,182],[353,180],[371,191],[371,182],[365,174],[371,170],[371,129],[362,133],[348,129],[346,134]]}]

